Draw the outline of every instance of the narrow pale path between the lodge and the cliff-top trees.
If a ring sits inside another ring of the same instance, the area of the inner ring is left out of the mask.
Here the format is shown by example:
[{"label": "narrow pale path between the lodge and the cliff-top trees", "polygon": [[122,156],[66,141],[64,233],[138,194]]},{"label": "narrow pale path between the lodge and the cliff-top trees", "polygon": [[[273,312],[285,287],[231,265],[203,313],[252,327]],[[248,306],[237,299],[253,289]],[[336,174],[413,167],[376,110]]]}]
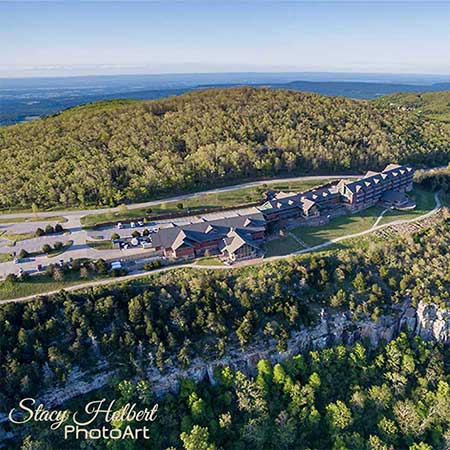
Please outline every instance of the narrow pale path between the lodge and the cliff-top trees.
[{"label": "narrow pale path between the lodge and the cliff-top trees", "polygon": [[[134,274],[131,275],[126,275],[124,277],[117,277],[117,278],[108,278],[108,279],[104,279],[104,280],[98,280],[98,281],[91,281],[91,282],[87,282],[87,283],[82,283],[82,284],[78,284],[78,285],[74,285],[74,286],[69,286],[67,288],[64,288],[65,291],[75,291],[75,290],[79,290],[79,289],[87,289],[90,287],[95,287],[95,286],[106,286],[108,284],[116,284],[116,283],[120,283],[122,281],[130,281],[136,278],[140,278],[146,275],[152,275],[155,273],[162,273],[162,272],[167,272],[169,270],[177,270],[177,269],[181,269],[181,268],[191,268],[191,269],[196,269],[196,270],[235,270],[237,268],[240,268],[242,266],[247,266],[247,265],[260,265],[260,264],[264,264],[266,262],[273,262],[276,260],[280,260],[280,259],[285,259],[285,258],[289,258],[295,255],[300,255],[300,254],[304,254],[304,253],[310,253],[313,251],[317,251],[317,250],[322,250],[326,247],[329,247],[337,242],[341,242],[347,239],[354,239],[357,237],[361,237],[370,233],[373,233],[375,231],[381,230],[383,228],[387,228],[389,226],[395,226],[395,225],[402,225],[402,224],[406,224],[406,223],[413,223],[413,222],[417,222],[419,220],[423,220],[426,219],[427,217],[432,216],[433,214],[436,214],[442,207],[442,203],[441,200],[439,198],[438,193],[436,193],[434,195],[434,199],[436,202],[435,207],[427,212],[426,214],[423,214],[421,216],[418,216],[416,218],[413,219],[405,219],[405,220],[395,220],[393,222],[389,222],[383,225],[377,225],[377,226],[372,226],[371,228],[361,231],[359,233],[354,233],[354,234],[347,234],[345,236],[341,236],[335,239],[332,239],[330,241],[324,242],[322,244],[319,245],[315,245],[313,247],[308,247],[302,250],[298,250],[296,252],[292,252],[289,253],[287,255],[282,255],[282,256],[272,256],[270,258],[258,258],[255,260],[247,260],[247,261],[243,261],[242,264],[239,265],[235,265],[235,266],[219,266],[219,265],[197,265],[197,264],[180,264],[177,266],[169,266],[169,267],[163,267],[161,269],[156,269],[156,270],[152,270],[150,272],[145,272],[145,271],[141,271],[141,272],[136,272]],[[382,216],[381,216],[382,217]],[[40,297],[42,295],[51,295],[51,294],[56,294],[58,292],[60,292],[61,290],[56,290],[56,291],[51,291],[51,292],[46,292],[45,294],[34,294],[34,295],[29,295],[26,297],[19,297],[19,298],[15,298],[15,299],[9,299],[9,300],[1,300],[0,304],[5,304],[5,303],[18,303],[18,302],[25,302],[25,301],[29,301],[32,300],[34,298]]]}]

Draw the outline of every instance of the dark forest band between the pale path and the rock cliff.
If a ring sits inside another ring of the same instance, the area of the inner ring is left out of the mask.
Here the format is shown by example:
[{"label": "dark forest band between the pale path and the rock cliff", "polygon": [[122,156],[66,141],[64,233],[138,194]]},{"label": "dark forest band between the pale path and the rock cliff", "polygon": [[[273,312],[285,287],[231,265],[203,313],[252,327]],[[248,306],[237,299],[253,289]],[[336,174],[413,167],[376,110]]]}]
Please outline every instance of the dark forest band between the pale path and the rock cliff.
[{"label": "dark forest band between the pale path and the rock cliff", "polygon": [[412,235],[234,271],[179,269],[0,306],[0,410],[106,363],[123,377],[255,342],[286,349],[320,308],[376,320],[405,298],[450,304],[450,216]]}]

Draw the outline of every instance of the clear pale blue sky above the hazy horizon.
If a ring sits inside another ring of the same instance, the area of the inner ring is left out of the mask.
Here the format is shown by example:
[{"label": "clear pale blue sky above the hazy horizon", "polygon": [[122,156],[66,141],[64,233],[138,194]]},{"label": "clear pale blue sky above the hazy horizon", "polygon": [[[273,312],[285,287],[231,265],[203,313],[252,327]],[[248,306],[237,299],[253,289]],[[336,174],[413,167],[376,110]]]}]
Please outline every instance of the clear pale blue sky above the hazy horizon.
[{"label": "clear pale blue sky above the hazy horizon", "polygon": [[450,72],[450,1],[2,1],[0,76]]}]

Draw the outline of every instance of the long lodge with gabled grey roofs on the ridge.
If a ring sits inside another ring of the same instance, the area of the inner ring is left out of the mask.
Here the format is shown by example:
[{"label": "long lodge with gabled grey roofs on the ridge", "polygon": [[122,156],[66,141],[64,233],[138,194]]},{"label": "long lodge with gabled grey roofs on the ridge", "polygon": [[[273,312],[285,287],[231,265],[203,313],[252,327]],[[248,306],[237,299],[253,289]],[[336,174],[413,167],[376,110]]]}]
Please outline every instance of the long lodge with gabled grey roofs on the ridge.
[{"label": "long lodge with gabled grey roofs on the ridge", "polygon": [[254,258],[262,254],[269,224],[298,220],[307,225],[321,216],[328,220],[337,211],[354,213],[378,202],[414,208],[405,194],[412,189],[413,175],[411,167],[389,164],[382,172],[369,171],[356,181],[335,181],[302,193],[269,193],[252,214],[161,228],[152,236],[152,247],[171,259],[210,254],[232,263]]}]

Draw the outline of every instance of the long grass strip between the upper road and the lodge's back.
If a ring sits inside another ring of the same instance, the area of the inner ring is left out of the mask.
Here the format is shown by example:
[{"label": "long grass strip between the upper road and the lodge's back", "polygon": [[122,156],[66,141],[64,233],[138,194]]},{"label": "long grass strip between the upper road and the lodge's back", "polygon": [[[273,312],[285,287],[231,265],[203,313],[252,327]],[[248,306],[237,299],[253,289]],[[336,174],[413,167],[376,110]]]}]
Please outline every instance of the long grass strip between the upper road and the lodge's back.
[{"label": "long grass strip between the upper road and the lodge's back", "polygon": [[[175,201],[169,203],[160,203],[151,207],[152,216],[162,214],[172,214],[179,212],[192,212],[204,209],[228,208],[247,203],[262,200],[263,192],[268,189],[302,192],[311,189],[320,184],[324,184],[330,179],[312,180],[312,181],[291,181],[285,183],[269,184],[267,187],[258,186],[251,188],[236,189],[234,191],[218,192],[214,194],[199,195],[183,201]],[[183,209],[179,209],[177,205],[183,204]],[[81,218],[81,223],[85,227],[93,227],[105,222],[115,222],[127,219],[142,219],[148,216],[149,208],[129,209],[126,211],[110,212],[104,214],[90,214]]]}]

